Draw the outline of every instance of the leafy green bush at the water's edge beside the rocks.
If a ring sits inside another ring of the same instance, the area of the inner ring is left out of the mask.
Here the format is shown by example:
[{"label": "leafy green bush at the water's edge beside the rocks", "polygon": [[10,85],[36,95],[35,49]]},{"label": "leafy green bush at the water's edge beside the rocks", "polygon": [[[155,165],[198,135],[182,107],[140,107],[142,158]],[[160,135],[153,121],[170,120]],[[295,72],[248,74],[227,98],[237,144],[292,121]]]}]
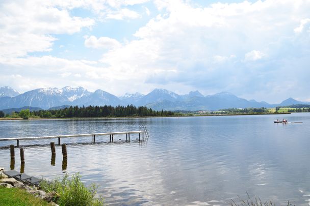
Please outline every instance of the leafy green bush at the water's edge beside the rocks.
[{"label": "leafy green bush at the water's edge beside the rocks", "polygon": [[81,182],[79,173],[73,174],[71,179],[68,174],[65,174],[62,180],[55,179],[51,182],[43,180],[41,188],[46,192],[56,192],[59,197],[55,201],[59,205],[104,205],[102,198],[94,198],[97,186],[92,184],[90,187],[86,187]]}]

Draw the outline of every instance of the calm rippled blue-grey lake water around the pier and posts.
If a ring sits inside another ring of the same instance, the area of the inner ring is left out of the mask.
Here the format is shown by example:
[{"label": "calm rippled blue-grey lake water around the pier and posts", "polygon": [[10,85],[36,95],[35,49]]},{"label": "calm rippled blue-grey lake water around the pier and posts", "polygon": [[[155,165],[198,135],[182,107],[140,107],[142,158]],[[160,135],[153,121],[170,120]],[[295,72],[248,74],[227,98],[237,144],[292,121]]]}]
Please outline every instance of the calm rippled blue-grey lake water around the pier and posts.
[{"label": "calm rippled blue-grey lake water around the pier and posts", "polygon": [[[302,124],[274,124],[286,118]],[[138,135],[66,138],[69,174],[111,205],[227,205],[238,195],[256,195],[285,204],[310,205],[310,114],[168,117],[108,120],[1,121],[0,138],[138,130]],[[119,140],[121,139],[121,140]],[[52,166],[49,142],[20,141],[27,174],[62,176],[61,147]],[[16,142],[0,141],[0,146]],[[69,144],[70,143],[70,144]],[[0,149],[0,167],[10,168],[10,150]],[[15,149],[15,170],[20,170]]]}]

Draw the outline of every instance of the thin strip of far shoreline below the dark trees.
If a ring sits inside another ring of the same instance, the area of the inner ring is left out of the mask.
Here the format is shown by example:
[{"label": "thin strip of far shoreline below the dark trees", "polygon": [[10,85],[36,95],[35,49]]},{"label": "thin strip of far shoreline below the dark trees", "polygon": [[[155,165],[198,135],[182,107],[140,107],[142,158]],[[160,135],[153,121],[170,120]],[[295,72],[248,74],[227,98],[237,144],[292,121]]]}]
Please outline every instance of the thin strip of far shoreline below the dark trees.
[{"label": "thin strip of far shoreline below the dark trees", "polygon": [[[281,113],[249,113],[249,114],[192,114],[192,115],[173,115],[173,116],[119,116],[119,117],[64,117],[64,118],[33,118],[30,117],[28,120],[105,120],[105,119],[137,119],[137,118],[161,118],[161,117],[192,117],[192,116],[245,116],[245,115],[276,115],[276,114],[291,114],[291,112],[281,112]],[[6,118],[2,117],[0,118],[0,121],[6,121],[6,120],[16,120],[16,121],[27,121],[23,120],[22,118]]]}]

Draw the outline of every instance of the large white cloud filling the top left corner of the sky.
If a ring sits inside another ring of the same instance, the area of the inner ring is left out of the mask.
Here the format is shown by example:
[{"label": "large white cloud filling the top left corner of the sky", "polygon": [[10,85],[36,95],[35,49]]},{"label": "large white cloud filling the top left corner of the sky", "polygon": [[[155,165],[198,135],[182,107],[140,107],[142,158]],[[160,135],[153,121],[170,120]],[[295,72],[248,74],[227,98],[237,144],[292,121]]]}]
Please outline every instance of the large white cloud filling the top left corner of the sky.
[{"label": "large white cloud filling the top left corner of the sky", "polygon": [[70,16],[65,9],[44,1],[7,1],[0,5],[0,57],[25,56],[50,51],[53,34],[73,34],[90,27],[94,20]]}]

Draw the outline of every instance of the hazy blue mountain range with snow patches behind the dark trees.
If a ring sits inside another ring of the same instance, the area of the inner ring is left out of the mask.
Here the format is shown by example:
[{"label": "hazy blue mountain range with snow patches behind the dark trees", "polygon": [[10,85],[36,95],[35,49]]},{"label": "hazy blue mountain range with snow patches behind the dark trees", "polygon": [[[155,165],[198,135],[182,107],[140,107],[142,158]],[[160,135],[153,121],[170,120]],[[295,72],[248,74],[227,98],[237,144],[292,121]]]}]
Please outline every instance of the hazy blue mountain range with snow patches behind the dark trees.
[{"label": "hazy blue mountain range with snow patches behind the dark trees", "polygon": [[[0,109],[36,107],[42,109],[61,108],[65,106],[104,106],[128,105],[146,106],[154,110],[218,110],[224,108],[259,108],[288,106],[293,104],[310,104],[289,98],[279,104],[257,102],[239,98],[234,94],[221,92],[215,95],[203,96],[198,91],[186,95],[178,95],[164,89],[154,89],[147,95],[140,93],[128,94],[117,97],[102,90],[89,92],[83,87],[41,88],[18,93],[9,86],[0,87]],[[9,110],[10,111],[10,110]]]}]

